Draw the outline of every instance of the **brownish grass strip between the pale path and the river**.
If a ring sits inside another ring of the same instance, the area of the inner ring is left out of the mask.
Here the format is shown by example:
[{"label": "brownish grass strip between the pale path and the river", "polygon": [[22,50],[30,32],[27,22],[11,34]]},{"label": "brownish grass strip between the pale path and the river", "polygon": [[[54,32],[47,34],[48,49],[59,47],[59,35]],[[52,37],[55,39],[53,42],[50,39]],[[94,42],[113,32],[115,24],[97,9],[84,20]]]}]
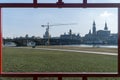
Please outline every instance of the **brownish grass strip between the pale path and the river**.
[{"label": "brownish grass strip between the pale path and the river", "polygon": [[80,51],[95,51],[95,52],[108,52],[118,53],[117,48],[99,48],[99,47],[80,47],[80,46],[37,46],[37,48],[50,48],[50,49],[67,49],[67,50],[80,50]]}]

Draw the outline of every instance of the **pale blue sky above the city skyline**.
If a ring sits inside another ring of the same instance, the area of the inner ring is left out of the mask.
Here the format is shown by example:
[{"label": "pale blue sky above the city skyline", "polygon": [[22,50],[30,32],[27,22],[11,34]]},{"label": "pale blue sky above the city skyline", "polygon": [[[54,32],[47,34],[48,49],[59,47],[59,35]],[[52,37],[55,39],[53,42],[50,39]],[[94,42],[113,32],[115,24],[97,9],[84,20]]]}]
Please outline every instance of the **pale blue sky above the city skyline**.
[{"label": "pale blue sky above the city skyline", "polygon": [[[38,2],[56,2],[57,0],[38,0]],[[82,0],[63,0],[64,3],[82,2]],[[32,0],[0,0],[0,3],[24,2]],[[120,0],[88,0],[89,3],[117,3]],[[111,33],[117,33],[117,8],[3,8],[2,27],[3,37],[38,36],[43,37],[46,28],[41,25],[71,24],[50,27],[52,37],[58,37],[69,29],[75,34],[84,36],[92,29],[93,21],[96,22],[97,30],[103,30],[105,22]]]}]

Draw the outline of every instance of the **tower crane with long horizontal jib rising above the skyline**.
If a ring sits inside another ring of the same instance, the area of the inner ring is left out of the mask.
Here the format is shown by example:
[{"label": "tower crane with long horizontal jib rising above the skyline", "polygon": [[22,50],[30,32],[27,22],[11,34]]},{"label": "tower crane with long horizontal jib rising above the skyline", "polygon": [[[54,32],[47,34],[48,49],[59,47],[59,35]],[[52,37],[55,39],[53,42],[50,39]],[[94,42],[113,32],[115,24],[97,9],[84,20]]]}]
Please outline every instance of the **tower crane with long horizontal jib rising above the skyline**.
[{"label": "tower crane with long horizontal jib rising above the skyline", "polygon": [[52,26],[64,26],[64,25],[76,25],[76,23],[54,24],[54,25],[50,25],[49,23],[47,23],[47,25],[41,25],[41,27],[46,27],[46,32],[45,32],[45,35],[43,37],[45,39],[47,39],[47,45],[50,45],[50,33],[49,33],[50,27],[52,27]]}]

